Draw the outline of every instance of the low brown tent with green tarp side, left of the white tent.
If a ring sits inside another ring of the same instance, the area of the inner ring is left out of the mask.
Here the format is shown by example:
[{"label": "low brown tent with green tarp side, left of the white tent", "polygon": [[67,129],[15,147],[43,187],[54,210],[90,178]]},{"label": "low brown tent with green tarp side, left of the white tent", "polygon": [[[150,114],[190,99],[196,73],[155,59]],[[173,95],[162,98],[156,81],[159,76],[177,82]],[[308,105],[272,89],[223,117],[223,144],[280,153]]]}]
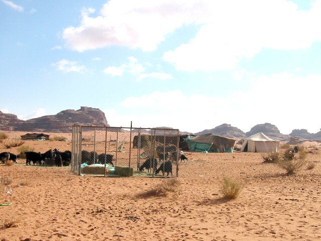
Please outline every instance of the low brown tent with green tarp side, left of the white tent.
[{"label": "low brown tent with green tarp side, left of the white tent", "polygon": [[233,152],[234,139],[212,133],[186,139],[189,150],[194,152]]}]

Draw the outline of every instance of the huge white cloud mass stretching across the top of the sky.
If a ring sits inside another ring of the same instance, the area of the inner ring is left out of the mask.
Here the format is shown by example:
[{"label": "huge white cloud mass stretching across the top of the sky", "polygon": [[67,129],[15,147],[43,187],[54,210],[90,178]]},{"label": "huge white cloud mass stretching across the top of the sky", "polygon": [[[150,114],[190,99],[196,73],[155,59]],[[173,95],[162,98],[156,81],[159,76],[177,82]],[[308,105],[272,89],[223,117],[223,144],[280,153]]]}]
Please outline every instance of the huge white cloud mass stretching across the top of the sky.
[{"label": "huge white cloud mass stretching across the top of the sky", "polygon": [[321,0],[308,11],[286,0],[110,0],[99,16],[82,12],[78,27],[63,38],[77,51],[126,46],[153,51],[182,26],[200,26],[196,35],[163,59],[185,71],[232,69],[262,49],[296,50],[321,40]]}]

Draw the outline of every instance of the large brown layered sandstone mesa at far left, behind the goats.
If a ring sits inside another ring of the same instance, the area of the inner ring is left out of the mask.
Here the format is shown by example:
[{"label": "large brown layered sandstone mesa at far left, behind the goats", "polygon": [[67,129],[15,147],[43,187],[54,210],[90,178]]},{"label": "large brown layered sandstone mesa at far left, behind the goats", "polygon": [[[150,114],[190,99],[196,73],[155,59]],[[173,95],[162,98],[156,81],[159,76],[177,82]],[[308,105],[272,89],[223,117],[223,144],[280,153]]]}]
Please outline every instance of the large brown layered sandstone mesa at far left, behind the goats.
[{"label": "large brown layered sandstone mesa at far left, behind the goats", "polygon": [[100,109],[81,106],[80,109],[66,109],[54,115],[22,121],[17,115],[0,111],[0,130],[24,132],[71,132],[73,125],[109,127],[105,114]]}]

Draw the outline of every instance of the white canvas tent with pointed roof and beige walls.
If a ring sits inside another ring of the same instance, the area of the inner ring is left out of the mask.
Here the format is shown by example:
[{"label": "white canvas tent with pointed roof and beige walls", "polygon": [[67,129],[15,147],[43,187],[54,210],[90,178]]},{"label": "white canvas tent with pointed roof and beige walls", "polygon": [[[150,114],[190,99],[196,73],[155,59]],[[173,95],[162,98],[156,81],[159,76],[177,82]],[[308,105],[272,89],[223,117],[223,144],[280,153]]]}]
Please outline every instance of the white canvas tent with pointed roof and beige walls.
[{"label": "white canvas tent with pointed roof and beige walls", "polygon": [[279,152],[280,141],[269,138],[263,133],[257,133],[244,140],[241,152]]}]

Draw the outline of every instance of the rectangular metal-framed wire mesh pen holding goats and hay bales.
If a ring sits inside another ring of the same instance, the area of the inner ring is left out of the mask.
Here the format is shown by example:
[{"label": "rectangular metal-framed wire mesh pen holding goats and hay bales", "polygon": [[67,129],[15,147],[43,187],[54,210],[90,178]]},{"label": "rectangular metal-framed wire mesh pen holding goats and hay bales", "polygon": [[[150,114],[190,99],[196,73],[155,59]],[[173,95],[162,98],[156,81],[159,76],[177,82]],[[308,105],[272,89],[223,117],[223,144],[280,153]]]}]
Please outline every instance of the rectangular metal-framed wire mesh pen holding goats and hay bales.
[{"label": "rectangular metal-framed wire mesh pen holding goats and hay bales", "polygon": [[72,171],[90,176],[178,177],[179,130],[72,127]]}]

